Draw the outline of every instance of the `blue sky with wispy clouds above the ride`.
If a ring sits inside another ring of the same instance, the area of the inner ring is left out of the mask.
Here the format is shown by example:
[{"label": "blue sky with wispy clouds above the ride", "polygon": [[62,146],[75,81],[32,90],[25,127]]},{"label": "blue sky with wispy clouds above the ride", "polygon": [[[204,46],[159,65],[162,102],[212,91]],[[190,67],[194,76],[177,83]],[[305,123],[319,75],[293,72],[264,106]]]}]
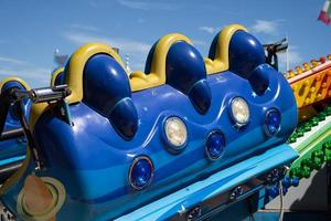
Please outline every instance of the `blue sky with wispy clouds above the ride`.
[{"label": "blue sky with wispy clouds above the ride", "polygon": [[[173,32],[206,56],[214,35],[243,24],[263,43],[288,35],[293,67],[331,53],[331,27],[317,21],[324,0],[0,0],[0,78],[17,75],[46,86],[57,48],[72,54],[87,42],[120,48],[131,70],[143,70],[150,46]],[[285,56],[280,57],[285,69]]]}]

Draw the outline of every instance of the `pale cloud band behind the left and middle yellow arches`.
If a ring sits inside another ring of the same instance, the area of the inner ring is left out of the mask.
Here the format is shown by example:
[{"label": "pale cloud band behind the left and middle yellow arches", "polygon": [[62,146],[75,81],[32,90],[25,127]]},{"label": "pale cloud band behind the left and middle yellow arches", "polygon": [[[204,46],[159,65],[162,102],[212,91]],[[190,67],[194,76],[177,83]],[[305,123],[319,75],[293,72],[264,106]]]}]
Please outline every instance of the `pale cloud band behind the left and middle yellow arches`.
[{"label": "pale cloud band behind the left and middle yellow arches", "polygon": [[151,45],[135,41],[130,39],[117,39],[117,38],[104,38],[98,35],[92,35],[86,33],[67,33],[64,35],[65,39],[73,42],[76,45],[82,45],[90,42],[100,42],[119,49],[119,53],[125,56],[128,54],[130,57],[131,70],[142,70],[147,59],[147,54]]}]

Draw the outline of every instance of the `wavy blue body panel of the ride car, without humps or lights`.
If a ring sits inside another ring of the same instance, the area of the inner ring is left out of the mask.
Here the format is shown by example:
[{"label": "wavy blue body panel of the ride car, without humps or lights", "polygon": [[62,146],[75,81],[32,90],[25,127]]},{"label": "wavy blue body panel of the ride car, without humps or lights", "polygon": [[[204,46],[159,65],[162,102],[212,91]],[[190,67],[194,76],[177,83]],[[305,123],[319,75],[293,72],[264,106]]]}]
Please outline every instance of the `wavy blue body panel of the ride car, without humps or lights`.
[{"label": "wavy blue body panel of the ride car, without humps or lights", "polygon": [[[40,146],[46,147],[43,150],[49,171],[70,192],[71,203],[65,207],[77,208],[78,218],[90,212],[95,219],[117,217],[284,143],[297,124],[296,103],[279,73],[268,73],[268,77],[270,91],[255,97],[248,82],[231,72],[209,76],[206,81],[214,96],[205,115],[196,113],[188,96],[169,85],[134,93],[140,125],[130,141],[122,139],[106,117],[84,103],[71,106],[73,127],[51,112],[45,113],[34,133]],[[241,130],[234,127],[228,115],[228,103],[238,95],[249,103],[252,110],[250,124]],[[288,120],[282,120],[281,130],[269,138],[264,131],[264,116],[273,107],[279,108],[282,118]],[[167,151],[161,137],[162,123],[169,116],[180,116],[189,128],[188,146],[175,157]],[[204,145],[214,129],[222,130],[228,141],[223,157],[211,164]],[[149,156],[154,162],[154,179],[143,192],[132,191],[127,182],[129,165],[140,155]],[[125,206],[116,207],[118,200],[125,201]],[[64,212],[61,214],[66,217]]]}]

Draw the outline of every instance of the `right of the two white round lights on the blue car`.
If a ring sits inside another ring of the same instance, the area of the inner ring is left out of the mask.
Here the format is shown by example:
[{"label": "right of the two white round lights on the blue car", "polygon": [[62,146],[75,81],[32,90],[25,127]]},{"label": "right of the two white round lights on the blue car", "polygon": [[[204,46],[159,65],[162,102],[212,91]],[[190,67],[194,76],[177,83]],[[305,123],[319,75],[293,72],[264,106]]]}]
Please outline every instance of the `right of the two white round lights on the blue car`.
[{"label": "right of the two white round lights on the blue car", "polygon": [[242,97],[235,97],[231,102],[231,114],[238,126],[244,126],[249,120],[249,107]]}]

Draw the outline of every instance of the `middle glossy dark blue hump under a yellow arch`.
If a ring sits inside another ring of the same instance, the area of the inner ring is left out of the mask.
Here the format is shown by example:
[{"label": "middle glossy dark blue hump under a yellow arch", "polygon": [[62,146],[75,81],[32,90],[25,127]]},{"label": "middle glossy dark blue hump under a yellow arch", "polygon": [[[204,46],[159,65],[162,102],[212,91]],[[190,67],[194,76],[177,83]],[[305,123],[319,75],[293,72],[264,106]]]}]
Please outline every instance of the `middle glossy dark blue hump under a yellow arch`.
[{"label": "middle glossy dark blue hump under a yellow arch", "polygon": [[211,106],[211,88],[203,57],[186,42],[171,45],[166,62],[167,84],[189,95],[193,106],[205,114]]}]

